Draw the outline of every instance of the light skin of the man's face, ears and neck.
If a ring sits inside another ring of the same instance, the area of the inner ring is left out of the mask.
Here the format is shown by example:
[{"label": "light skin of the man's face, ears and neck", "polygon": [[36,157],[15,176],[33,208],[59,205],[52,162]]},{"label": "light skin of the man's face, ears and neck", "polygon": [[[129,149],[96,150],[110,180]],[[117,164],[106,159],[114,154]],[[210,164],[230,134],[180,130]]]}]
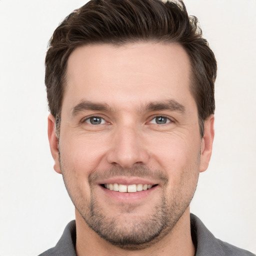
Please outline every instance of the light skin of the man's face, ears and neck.
[{"label": "light skin of the man's face, ears and neck", "polygon": [[[75,205],[78,256],[194,255],[189,203],[208,166],[214,117],[200,138],[190,69],[176,44],[85,45],[69,56],[59,143],[52,115],[48,137]],[[120,193],[100,185],[114,181],[155,186]],[[114,242],[127,234],[138,244]]]}]

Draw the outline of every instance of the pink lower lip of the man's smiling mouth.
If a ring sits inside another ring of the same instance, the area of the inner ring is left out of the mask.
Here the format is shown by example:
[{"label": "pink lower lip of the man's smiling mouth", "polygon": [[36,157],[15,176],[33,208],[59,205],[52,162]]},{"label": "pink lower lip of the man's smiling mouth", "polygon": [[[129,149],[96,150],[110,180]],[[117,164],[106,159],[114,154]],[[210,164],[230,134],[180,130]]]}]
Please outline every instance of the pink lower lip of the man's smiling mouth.
[{"label": "pink lower lip of the man's smiling mouth", "polygon": [[157,189],[157,186],[153,186],[147,190],[142,190],[142,191],[137,191],[137,192],[133,192],[133,193],[122,193],[122,192],[118,192],[118,191],[114,191],[114,190],[110,190],[107,188],[104,188],[102,186],[100,186],[100,189],[105,193],[106,196],[114,199],[114,200],[119,200],[119,201],[136,201],[136,200],[141,200],[144,199],[145,197],[149,196],[152,192],[155,191],[155,189]]}]

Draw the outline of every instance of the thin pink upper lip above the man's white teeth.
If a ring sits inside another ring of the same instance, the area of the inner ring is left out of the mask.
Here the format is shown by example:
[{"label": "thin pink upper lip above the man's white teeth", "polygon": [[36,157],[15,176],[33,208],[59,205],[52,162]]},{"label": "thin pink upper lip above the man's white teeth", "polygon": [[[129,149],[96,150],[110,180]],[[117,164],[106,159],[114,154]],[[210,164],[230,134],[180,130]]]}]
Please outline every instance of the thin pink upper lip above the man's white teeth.
[{"label": "thin pink upper lip above the man's white teeth", "polygon": [[140,177],[111,177],[107,179],[102,179],[98,182],[99,184],[110,184],[110,183],[118,183],[123,185],[132,185],[132,184],[158,184],[158,182],[149,180],[146,178]]}]

